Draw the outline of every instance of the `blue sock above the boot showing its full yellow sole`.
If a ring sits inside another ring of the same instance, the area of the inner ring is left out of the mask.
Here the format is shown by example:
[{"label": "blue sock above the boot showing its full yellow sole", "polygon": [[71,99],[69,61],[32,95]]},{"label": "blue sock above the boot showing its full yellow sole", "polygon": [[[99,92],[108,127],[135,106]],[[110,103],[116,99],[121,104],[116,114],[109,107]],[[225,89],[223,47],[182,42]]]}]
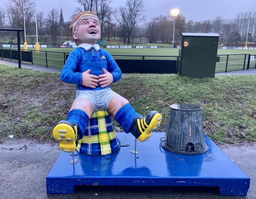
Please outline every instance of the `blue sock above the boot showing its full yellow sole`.
[{"label": "blue sock above the boot showing its full yellow sole", "polygon": [[73,109],[68,113],[68,117],[66,120],[77,125],[79,140],[81,140],[84,136],[84,132],[89,121],[88,115],[83,110]]}]

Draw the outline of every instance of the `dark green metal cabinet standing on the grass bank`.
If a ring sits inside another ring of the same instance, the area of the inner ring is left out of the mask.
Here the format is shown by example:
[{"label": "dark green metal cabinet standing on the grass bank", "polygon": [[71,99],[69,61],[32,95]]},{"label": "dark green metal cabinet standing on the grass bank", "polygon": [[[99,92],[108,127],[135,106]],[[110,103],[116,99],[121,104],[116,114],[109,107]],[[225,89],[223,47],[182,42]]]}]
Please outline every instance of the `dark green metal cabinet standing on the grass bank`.
[{"label": "dark green metal cabinet standing on the grass bank", "polygon": [[217,33],[182,33],[177,73],[192,78],[215,77]]}]

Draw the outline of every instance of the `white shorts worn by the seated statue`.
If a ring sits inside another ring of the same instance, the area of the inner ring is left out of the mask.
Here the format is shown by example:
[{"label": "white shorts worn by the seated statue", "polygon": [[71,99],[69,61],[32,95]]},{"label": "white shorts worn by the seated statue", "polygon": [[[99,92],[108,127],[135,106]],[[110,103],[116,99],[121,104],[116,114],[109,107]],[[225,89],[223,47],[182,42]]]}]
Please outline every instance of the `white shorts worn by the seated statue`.
[{"label": "white shorts worn by the seated statue", "polygon": [[87,99],[92,103],[94,111],[107,110],[110,100],[116,93],[112,89],[99,91],[77,90],[76,99]]}]

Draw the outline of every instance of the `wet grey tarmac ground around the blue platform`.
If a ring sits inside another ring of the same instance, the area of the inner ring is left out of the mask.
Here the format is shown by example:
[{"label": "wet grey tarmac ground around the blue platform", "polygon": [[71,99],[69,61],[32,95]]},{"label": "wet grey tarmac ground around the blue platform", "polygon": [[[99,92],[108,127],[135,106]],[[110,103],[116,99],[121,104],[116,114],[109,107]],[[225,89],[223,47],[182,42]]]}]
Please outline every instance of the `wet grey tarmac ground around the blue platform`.
[{"label": "wet grey tarmac ground around the blue platform", "polygon": [[[237,199],[223,197],[215,189],[159,187],[79,187],[73,195],[47,195],[46,176],[56,162],[60,150],[56,144],[32,140],[2,140],[0,144],[1,199]],[[222,150],[251,178],[246,197],[256,198],[256,144],[222,146]]]}]

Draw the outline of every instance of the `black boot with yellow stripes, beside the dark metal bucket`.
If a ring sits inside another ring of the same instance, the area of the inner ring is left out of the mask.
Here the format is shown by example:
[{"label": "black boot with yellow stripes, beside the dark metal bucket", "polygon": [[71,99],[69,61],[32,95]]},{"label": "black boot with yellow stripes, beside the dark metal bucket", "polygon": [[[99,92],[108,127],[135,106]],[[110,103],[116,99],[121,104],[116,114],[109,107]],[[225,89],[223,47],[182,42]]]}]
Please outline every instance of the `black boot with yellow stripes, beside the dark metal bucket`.
[{"label": "black boot with yellow stripes, beside the dark metal bucket", "polygon": [[134,118],[130,132],[134,137],[138,138],[140,142],[144,142],[151,137],[151,132],[156,131],[162,122],[162,115],[152,110],[147,116],[137,116]]}]

